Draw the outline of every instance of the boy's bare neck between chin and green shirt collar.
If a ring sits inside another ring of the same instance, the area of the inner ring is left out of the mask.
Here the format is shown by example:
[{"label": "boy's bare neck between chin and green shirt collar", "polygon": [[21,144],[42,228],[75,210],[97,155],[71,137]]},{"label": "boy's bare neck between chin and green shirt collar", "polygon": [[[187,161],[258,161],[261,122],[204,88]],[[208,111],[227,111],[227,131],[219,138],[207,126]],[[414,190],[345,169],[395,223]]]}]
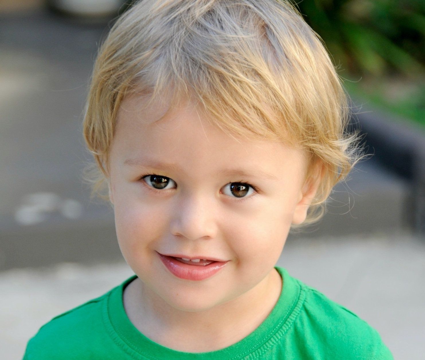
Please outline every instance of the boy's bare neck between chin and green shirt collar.
[{"label": "boy's bare neck between chin and green shirt collar", "polygon": [[258,328],[277,303],[281,289],[280,274],[272,269],[254,288],[235,299],[208,310],[182,311],[137,278],[125,289],[124,307],[133,325],[156,343],[178,351],[215,351]]}]

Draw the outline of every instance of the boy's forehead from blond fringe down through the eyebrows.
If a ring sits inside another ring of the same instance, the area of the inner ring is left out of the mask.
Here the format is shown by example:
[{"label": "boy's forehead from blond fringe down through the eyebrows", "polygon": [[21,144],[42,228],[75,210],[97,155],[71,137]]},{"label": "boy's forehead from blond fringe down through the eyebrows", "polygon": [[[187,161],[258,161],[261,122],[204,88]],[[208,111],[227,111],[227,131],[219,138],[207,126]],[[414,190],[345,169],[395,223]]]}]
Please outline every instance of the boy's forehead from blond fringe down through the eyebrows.
[{"label": "boy's forehead from blond fringe down through the eyebrows", "polygon": [[[219,128],[214,120],[190,101],[170,106],[165,99],[126,97],[119,109],[111,159],[127,165],[184,162],[187,170],[230,168],[238,163],[261,172],[291,167],[305,173],[306,152],[282,142],[247,138]],[[140,161],[139,161],[140,160]],[[145,161],[146,162],[146,161]],[[221,169],[220,169],[221,170]]]}]

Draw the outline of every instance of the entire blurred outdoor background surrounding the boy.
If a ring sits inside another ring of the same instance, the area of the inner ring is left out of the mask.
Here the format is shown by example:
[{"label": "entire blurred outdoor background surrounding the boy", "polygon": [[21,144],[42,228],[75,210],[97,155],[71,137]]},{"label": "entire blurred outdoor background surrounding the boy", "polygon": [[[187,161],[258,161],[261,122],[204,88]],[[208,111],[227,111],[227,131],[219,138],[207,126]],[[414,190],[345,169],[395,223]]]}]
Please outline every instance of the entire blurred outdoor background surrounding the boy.
[{"label": "entire blurred outdoor background surrounding the boy", "polygon": [[[303,0],[371,154],[279,265],[377,329],[396,359],[425,338],[425,2]],[[111,206],[90,199],[82,116],[121,0],[0,0],[0,349],[132,274]]]}]

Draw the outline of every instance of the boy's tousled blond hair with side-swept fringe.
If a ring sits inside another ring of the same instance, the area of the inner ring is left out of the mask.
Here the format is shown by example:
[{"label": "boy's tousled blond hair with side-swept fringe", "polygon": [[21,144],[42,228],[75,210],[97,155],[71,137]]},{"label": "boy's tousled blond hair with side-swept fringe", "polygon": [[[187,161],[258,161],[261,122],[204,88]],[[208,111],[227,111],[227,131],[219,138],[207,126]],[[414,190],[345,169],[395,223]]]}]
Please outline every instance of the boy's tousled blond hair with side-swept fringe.
[{"label": "boy's tousled blond hair with side-swept fringe", "polygon": [[99,49],[83,123],[96,160],[86,178],[104,199],[117,111],[132,93],[195,98],[223,129],[306,149],[307,177],[320,163],[321,180],[303,226],[323,216],[333,186],[362,158],[331,59],[286,1],[143,0],[116,21]]}]

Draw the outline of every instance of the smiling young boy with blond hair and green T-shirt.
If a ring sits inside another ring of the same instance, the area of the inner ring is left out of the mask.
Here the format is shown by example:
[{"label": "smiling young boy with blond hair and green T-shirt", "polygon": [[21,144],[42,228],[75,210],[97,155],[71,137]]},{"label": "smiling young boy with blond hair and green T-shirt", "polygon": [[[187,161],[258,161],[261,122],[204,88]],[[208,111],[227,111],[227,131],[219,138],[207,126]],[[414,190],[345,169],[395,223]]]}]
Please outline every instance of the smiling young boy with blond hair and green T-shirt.
[{"label": "smiling young boy with blond hair and green T-shirt", "polygon": [[275,264],[361,158],[328,54],[282,0],[142,0],[100,49],[84,120],[135,275],[30,359],[392,359]]}]

